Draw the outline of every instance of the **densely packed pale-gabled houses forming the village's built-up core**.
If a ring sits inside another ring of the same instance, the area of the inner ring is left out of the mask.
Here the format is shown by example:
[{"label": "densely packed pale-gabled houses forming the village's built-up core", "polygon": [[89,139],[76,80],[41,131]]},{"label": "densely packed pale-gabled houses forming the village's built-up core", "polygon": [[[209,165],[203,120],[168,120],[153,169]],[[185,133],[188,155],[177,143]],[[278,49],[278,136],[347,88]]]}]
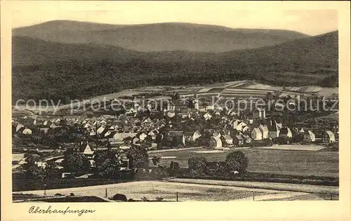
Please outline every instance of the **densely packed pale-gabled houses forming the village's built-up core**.
[{"label": "densely packed pale-gabled houses forming the village's built-up core", "polygon": [[[151,149],[156,149],[165,140],[170,145],[186,146],[187,143],[198,142],[197,145],[210,148],[249,146],[252,142],[274,140],[276,138],[293,138],[300,136],[304,142],[315,142],[316,135],[311,130],[303,128],[289,128],[271,119],[264,124],[257,124],[257,119],[265,119],[265,109],[257,109],[249,119],[239,120],[237,113],[227,109],[211,109],[204,111],[190,109],[186,105],[178,105],[178,109],[163,110],[161,117],[147,116],[136,109],[117,116],[100,116],[90,119],[32,119],[24,117],[13,120],[13,133],[32,135],[33,128],[37,132],[47,135],[55,134],[68,127],[77,128],[81,133],[92,138],[98,138],[108,145],[128,148],[131,145],[147,143]],[[154,114],[157,114],[154,113]],[[180,120],[176,119],[180,116]],[[218,129],[187,130],[180,129],[178,124],[187,121],[204,121],[218,119]],[[167,128],[164,130],[164,128]],[[323,143],[335,142],[336,138],[331,130],[322,134]],[[200,142],[199,142],[200,141]]]}]

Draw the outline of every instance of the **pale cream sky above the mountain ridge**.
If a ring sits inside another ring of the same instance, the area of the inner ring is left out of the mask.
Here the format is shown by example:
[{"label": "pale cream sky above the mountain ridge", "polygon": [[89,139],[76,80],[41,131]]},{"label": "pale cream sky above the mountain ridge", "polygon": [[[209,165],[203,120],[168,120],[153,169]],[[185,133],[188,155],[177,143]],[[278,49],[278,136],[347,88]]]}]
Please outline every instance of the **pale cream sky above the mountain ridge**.
[{"label": "pale cream sky above the mountain ridge", "polygon": [[[331,8],[234,1],[26,1],[13,6],[12,27],[50,20],[118,25],[190,22],[232,28],[289,29],[310,35],[338,29]],[[275,6],[275,7],[274,7]],[[248,8],[250,8],[248,10]]]}]

